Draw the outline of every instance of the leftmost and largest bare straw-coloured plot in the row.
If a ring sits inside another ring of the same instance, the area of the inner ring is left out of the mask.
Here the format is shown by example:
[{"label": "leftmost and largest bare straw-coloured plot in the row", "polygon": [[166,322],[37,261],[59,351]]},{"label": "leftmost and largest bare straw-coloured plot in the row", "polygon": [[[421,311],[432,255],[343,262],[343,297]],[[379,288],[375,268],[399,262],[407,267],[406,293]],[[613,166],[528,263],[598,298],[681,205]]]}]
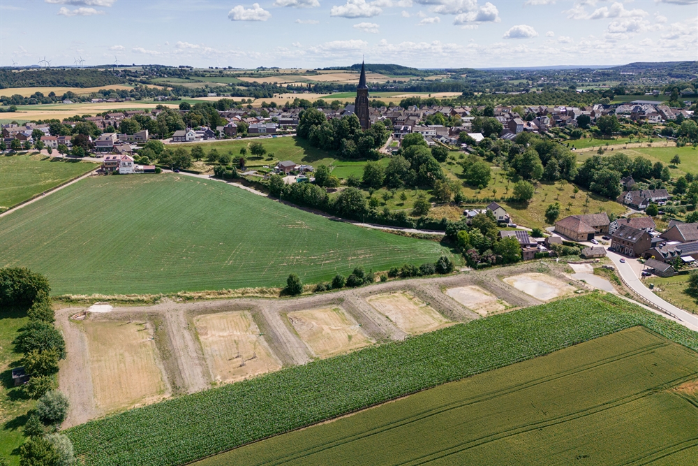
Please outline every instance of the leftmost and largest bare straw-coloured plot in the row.
[{"label": "leftmost and largest bare straw-coloured plot in the row", "polygon": [[99,409],[110,413],[170,395],[147,324],[86,320],[82,328]]}]

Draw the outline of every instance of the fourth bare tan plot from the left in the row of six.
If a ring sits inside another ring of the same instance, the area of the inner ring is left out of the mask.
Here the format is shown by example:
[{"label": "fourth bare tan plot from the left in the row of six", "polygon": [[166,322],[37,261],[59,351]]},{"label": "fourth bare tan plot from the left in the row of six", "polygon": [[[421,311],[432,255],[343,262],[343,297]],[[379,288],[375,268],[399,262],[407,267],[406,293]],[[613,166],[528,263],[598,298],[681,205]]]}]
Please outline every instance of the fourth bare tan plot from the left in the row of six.
[{"label": "fourth bare tan plot from the left in the row of six", "polygon": [[410,335],[451,325],[448,319],[409,293],[387,293],[366,300],[397,328]]}]

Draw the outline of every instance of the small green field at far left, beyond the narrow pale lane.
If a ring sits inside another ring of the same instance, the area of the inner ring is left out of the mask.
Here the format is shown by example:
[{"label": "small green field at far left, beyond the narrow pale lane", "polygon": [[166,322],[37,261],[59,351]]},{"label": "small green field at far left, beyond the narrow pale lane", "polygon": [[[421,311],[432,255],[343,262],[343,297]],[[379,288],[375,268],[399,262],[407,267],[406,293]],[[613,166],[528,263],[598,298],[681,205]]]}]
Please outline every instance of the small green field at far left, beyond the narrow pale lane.
[{"label": "small green field at far left, beyond the narrow pale lane", "polygon": [[0,209],[12,207],[97,168],[96,163],[36,155],[0,156]]}]

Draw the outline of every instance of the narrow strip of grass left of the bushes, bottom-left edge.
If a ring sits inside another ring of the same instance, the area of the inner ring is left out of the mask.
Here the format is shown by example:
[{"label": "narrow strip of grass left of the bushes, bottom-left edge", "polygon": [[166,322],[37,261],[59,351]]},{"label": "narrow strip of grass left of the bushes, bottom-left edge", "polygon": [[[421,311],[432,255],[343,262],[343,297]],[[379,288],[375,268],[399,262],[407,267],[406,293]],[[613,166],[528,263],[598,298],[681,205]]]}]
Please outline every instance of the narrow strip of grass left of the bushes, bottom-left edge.
[{"label": "narrow strip of grass left of the bushes, bottom-left edge", "polygon": [[19,465],[19,457],[10,456],[24,443],[22,425],[27,420],[27,412],[36,402],[24,398],[20,388],[12,383],[12,367],[22,357],[15,353],[12,341],[17,337],[17,330],[28,319],[24,312],[6,312],[0,316],[0,458],[8,458],[10,465]]}]

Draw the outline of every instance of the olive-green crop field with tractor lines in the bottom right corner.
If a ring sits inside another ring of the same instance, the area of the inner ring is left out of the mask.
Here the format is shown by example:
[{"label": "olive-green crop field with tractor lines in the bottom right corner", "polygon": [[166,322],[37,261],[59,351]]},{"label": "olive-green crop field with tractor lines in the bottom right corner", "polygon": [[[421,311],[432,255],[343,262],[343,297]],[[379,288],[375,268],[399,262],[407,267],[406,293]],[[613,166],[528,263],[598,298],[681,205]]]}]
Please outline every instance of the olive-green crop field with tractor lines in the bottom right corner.
[{"label": "olive-green crop field with tractor lines in the bottom right corner", "polygon": [[195,464],[676,465],[698,458],[676,389],[697,378],[698,354],[634,327]]}]

